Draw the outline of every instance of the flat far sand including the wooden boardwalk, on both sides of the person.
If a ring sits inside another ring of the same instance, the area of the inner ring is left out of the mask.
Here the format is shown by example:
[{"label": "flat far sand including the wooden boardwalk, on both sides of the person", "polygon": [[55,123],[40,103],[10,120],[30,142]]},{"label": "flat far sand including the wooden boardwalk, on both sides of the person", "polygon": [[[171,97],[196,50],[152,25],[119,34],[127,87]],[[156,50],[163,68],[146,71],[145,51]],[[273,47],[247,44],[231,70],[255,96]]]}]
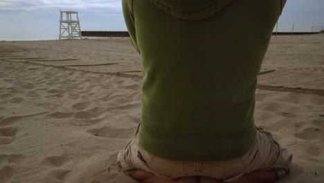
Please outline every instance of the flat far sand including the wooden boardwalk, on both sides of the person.
[{"label": "flat far sand including the wooden boardwalk, on both sides of the person", "polygon": [[[324,34],[273,36],[259,76],[260,89],[324,96]],[[129,38],[0,42],[0,59],[94,73],[141,77],[141,62]],[[307,67],[305,67],[307,64]]]}]

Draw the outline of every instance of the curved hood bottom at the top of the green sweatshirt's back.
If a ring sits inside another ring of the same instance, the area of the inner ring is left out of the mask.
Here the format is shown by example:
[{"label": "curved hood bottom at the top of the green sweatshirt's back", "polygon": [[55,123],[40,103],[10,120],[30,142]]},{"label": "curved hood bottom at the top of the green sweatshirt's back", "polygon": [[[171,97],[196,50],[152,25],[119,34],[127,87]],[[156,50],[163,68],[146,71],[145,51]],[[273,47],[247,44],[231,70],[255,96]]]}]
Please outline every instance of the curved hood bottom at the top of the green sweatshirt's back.
[{"label": "curved hood bottom at the top of the green sweatshirt's back", "polygon": [[164,12],[186,20],[206,19],[232,0],[150,0]]}]

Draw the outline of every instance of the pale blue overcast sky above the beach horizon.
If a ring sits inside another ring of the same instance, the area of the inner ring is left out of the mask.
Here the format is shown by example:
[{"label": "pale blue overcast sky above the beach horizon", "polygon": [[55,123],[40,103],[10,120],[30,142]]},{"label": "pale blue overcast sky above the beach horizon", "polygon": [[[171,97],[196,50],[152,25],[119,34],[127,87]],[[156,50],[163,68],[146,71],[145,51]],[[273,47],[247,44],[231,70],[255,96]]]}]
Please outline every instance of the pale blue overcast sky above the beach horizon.
[{"label": "pale blue overcast sky above the beach horizon", "polygon": [[[120,1],[0,0],[0,40],[55,40],[60,10],[78,11],[82,30],[126,30]],[[324,0],[287,0],[278,22],[279,31],[324,28]]]}]

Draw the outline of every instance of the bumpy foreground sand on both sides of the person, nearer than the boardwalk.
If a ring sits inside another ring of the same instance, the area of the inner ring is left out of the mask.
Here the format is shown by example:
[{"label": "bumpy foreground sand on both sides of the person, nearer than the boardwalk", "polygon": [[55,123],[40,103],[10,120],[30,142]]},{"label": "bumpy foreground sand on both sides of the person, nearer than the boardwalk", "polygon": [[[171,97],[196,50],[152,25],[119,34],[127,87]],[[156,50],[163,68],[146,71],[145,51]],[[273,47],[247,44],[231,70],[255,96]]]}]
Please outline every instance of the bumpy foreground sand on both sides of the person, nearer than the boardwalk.
[{"label": "bumpy foreground sand on both sides of the person, nearer than the boardwalk", "polygon": [[[0,182],[134,182],[116,155],[139,121],[137,78],[1,62]],[[255,121],[294,154],[280,182],[324,181],[324,97],[258,90]]]}]

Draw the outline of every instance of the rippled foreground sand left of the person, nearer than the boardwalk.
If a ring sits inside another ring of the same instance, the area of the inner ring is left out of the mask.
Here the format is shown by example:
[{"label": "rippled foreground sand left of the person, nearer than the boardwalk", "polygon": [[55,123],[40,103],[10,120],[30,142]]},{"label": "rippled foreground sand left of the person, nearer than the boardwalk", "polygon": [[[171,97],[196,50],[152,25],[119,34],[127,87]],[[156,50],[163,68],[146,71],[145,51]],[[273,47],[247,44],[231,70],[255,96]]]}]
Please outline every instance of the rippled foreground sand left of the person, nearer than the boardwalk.
[{"label": "rippled foreground sand left of the person, nearer than the boardwalk", "polygon": [[140,79],[13,62],[1,68],[0,182],[62,182],[98,156],[111,168],[107,180],[116,179],[116,153],[139,121]]}]

